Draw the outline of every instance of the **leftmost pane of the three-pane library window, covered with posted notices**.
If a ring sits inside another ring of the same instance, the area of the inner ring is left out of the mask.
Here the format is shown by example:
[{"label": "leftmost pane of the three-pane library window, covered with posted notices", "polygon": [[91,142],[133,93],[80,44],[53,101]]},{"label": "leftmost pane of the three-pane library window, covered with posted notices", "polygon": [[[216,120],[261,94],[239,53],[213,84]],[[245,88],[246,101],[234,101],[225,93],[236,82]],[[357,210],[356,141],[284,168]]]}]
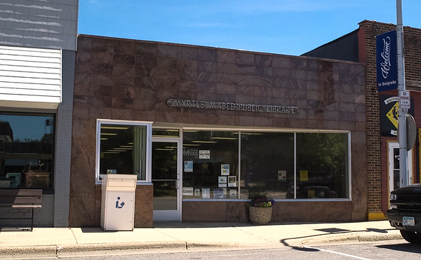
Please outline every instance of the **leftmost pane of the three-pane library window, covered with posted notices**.
[{"label": "leftmost pane of the three-pane library window, covered with posted notices", "polygon": [[239,198],[239,132],[184,131],[184,198]]}]

